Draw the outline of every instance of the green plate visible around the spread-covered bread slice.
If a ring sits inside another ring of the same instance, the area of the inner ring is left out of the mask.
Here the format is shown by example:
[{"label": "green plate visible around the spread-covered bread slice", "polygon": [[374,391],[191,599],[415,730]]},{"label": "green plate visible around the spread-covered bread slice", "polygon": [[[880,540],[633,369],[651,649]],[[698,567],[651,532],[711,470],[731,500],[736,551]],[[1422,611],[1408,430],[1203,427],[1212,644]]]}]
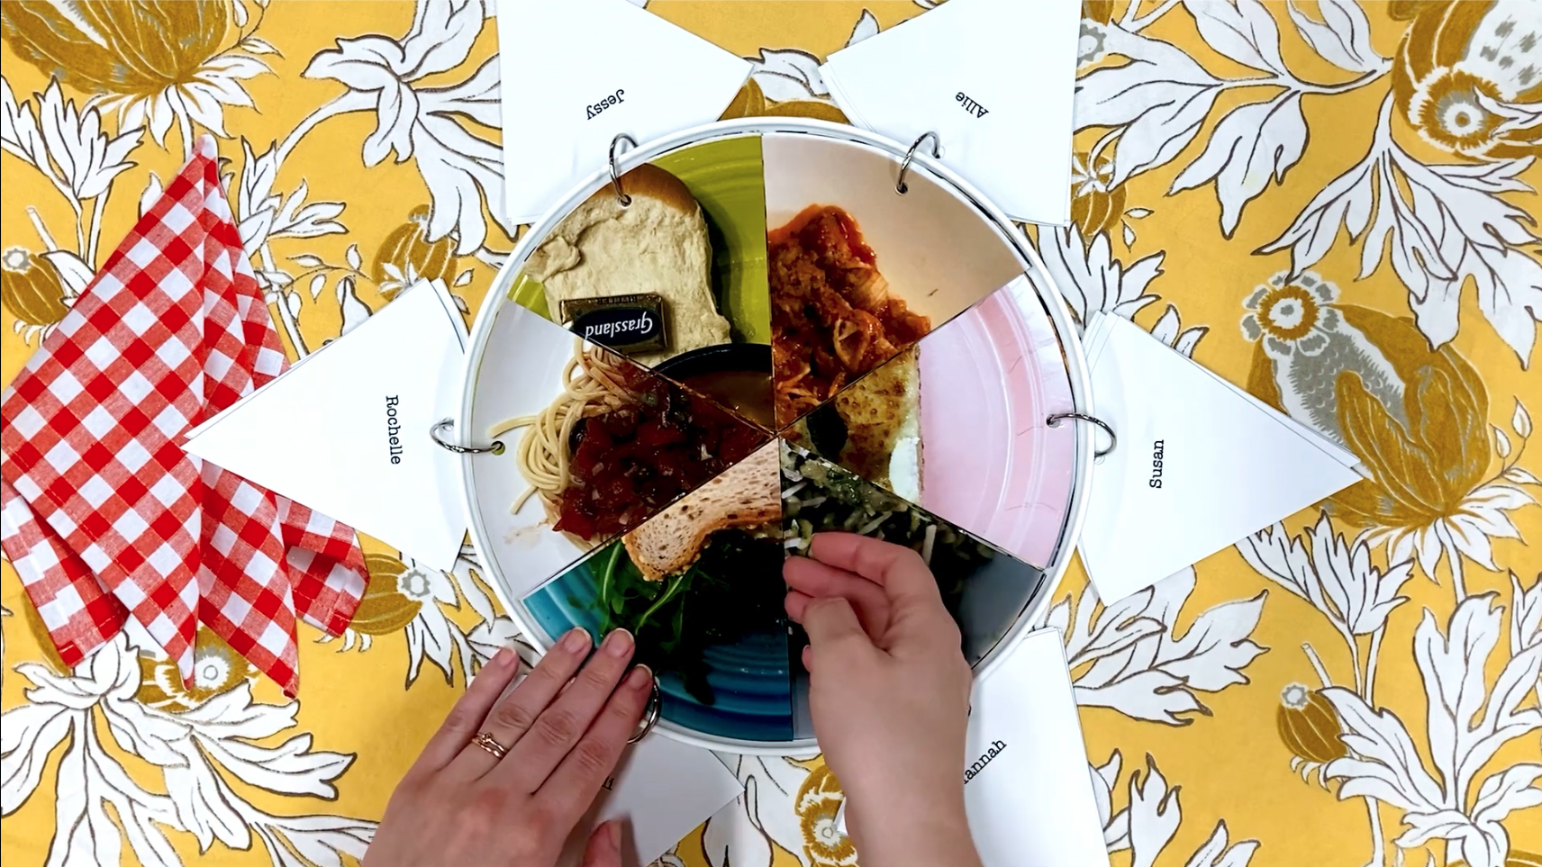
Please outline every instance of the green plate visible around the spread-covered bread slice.
[{"label": "green plate visible around the spread-covered bread slice", "polygon": [[[766,194],[760,136],[719,139],[654,160],[678,177],[706,216],[712,244],[712,290],[737,342],[771,342],[766,281]],[[547,319],[546,288],[520,273],[509,299]]]}]

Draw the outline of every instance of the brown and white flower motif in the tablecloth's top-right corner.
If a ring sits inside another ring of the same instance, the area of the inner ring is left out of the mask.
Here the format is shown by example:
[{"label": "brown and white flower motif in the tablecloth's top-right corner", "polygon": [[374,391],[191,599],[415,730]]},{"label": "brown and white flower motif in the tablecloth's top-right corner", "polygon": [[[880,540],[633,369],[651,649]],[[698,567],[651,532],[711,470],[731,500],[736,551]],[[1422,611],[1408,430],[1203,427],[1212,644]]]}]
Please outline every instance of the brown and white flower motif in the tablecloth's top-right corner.
[{"label": "brown and white flower motif in the tablecloth's top-right corner", "polygon": [[1409,22],[1392,93],[1420,137],[1474,159],[1542,153],[1542,22],[1523,5],[1462,0],[1389,12]]}]

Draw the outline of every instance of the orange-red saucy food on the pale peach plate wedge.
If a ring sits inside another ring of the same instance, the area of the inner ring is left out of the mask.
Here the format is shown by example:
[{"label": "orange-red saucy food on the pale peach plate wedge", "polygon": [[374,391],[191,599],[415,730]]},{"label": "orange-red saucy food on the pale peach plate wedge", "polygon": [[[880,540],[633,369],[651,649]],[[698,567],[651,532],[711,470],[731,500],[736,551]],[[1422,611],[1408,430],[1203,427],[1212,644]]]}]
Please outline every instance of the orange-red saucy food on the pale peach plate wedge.
[{"label": "orange-red saucy food on the pale peach plate wedge", "polygon": [[785,427],[931,330],[890,293],[851,214],[810,205],[766,233],[776,421]]}]

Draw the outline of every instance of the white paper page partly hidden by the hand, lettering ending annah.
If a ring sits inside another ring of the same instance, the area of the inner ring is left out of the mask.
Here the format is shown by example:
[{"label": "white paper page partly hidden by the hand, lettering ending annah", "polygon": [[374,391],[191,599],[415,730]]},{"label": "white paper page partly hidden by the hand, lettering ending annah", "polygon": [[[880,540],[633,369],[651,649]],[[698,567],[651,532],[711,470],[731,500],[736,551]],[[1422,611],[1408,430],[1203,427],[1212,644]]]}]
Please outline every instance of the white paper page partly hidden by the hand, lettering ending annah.
[{"label": "white paper page partly hidden by the hand, lettering ending annah", "polygon": [[975,680],[964,808],[985,867],[1107,867],[1103,819],[1058,629]]}]

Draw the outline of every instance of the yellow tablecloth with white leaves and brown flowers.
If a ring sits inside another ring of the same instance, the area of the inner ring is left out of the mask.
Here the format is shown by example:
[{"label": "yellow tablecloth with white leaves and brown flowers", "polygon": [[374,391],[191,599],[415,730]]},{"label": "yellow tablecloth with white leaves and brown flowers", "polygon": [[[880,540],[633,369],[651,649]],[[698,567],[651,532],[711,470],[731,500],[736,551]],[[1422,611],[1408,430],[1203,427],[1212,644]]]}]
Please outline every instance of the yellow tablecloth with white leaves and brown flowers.
[{"label": "yellow tablecloth with white leaves and brown flowers", "polygon": [[[817,62],[927,5],[648,8],[754,60],[731,116],[840,119]],[[295,356],[418,276],[473,313],[512,247],[498,93],[541,83],[498,80],[484,0],[0,15],[5,381],[205,130]],[[1372,475],[1113,606],[1067,574],[1050,620],[1115,865],[1542,864],[1539,39],[1519,0],[1086,3],[1075,225],[1033,231],[1067,304]],[[367,551],[298,700],[214,642],[188,691],[133,631],[68,671],[6,565],[5,861],[356,859],[515,633],[473,552],[446,575]],[[668,864],[854,862],[819,762],[729,759],[745,798]]]}]

